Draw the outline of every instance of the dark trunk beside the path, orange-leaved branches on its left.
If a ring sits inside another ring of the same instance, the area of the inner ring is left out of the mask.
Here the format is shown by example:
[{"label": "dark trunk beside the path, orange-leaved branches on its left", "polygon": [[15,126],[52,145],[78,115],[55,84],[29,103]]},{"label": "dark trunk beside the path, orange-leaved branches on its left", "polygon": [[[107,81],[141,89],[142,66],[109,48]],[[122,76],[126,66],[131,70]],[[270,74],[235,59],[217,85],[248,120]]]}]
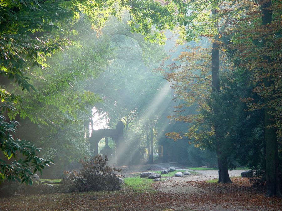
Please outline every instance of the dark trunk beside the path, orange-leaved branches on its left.
[{"label": "dark trunk beside the path, orange-leaved branches on its left", "polygon": [[[217,12],[212,9],[212,15],[216,15]],[[218,28],[218,23],[215,23],[215,27]],[[219,80],[219,42],[218,35],[215,35],[212,41],[212,93],[216,94],[220,92],[220,80]],[[217,116],[219,113],[217,106],[213,106],[213,115]],[[220,139],[222,138],[222,134],[219,132],[219,123],[217,121],[214,122],[214,131],[217,140],[217,144],[220,143]],[[228,174],[228,163],[226,163],[226,159],[222,156],[220,150],[218,150],[220,146],[217,146],[217,163],[218,163],[218,182],[219,183],[231,183],[231,179]]]}]

